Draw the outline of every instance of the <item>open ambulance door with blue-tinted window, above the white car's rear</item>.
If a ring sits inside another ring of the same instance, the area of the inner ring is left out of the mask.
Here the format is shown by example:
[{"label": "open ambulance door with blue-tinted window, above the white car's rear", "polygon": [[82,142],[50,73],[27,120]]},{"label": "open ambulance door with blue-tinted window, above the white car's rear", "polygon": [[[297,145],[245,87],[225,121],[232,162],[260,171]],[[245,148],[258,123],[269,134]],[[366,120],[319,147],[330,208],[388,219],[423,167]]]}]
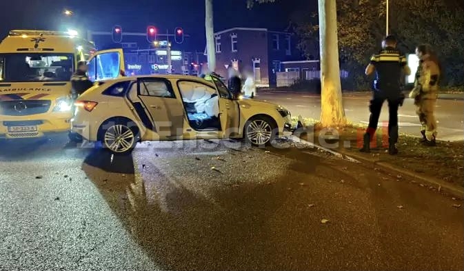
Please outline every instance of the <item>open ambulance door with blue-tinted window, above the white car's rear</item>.
[{"label": "open ambulance door with blue-tinted window, above the white car's rear", "polygon": [[90,81],[114,79],[122,76],[121,72],[125,72],[122,49],[97,51],[88,60]]}]

